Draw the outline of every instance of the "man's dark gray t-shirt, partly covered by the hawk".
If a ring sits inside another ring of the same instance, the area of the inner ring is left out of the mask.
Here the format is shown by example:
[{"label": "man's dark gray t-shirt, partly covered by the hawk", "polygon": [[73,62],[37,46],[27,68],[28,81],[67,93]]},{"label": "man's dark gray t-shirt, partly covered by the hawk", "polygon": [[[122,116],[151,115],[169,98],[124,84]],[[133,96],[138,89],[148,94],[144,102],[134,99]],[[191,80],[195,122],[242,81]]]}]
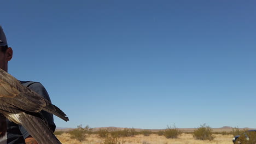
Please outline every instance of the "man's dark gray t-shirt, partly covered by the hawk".
[{"label": "man's dark gray t-shirt, partly covered by the hawk", "polygon": [[[50,97],[44,88],[44,86],[39,82],[33,81],[20,81],[22,85],[29,87],[32,91],[38,93],[41,97],[50,100]],[[53,115],[51,113],[41,111],[42,115],[48,122],[50,129],[54,132],[56,125],[54,123]],[[35,128],[37,129],[37,128]],[[0,140],[0,144],[25,144],[25,139],[30,134],[26,131],[22,125],[10,122],[7,119],[7,134]]]}]

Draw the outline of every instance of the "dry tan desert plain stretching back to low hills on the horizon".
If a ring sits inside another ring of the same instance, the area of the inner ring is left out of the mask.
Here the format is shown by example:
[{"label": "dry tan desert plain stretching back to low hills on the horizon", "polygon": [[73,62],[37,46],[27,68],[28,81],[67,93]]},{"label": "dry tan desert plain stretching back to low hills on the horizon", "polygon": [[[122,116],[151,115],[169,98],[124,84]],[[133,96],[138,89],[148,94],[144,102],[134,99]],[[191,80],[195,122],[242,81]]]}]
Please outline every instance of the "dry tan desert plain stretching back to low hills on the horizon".
[{"label": "dry tan desert plain stretching back to low hills on the horizon", "polygon": [[[204,126],[206,127],[206,126]],[[208,127],[210,128],[210,127]],[[78,128],[79,129],[79,128]],[[83,139],[75,139],[74,134],[77,134],[79,137],[78,129],[57,129],[55,134],[57,138],[63,143],[82,143],[82,144],[232,144],[232,139],[236,132],[241,132],[244,130],[248,130],[249,128],[232,128],[232,127],[222,127],[222,128],[211,128],[211,133],[214,139],[212,140],[198,140],[195,139],[193,136],[194,131],[198,130],[199,128],[174,128],[180,132],[180,134],[176,138],[167,138],[165,135],[160,135],[160,131],[165,130],[158,130],[158,129],[129,129],[129,128],[115,128],[115,127],[108,127],[108,128],[89,128],[88,126],[85,128],[80,127],[80,132],[84,131]],[[170,128],[171,129],[171,128]],[[78,130],[75,133],[69,133],[69,131]],[[88,132],[90,131],[90,133]],[[114,133],[119,131],[129,131],[135,130],[137,134],[131,136],[102,136],[102,132],[107,132],[108,134]],[[172,129],[171,129],[172,130]],[[143,131],[148,131],[148,134],[145,134]],[[150,132],[149,132],[150,131]],[[173,134],[173,133],[172,133]]]}]

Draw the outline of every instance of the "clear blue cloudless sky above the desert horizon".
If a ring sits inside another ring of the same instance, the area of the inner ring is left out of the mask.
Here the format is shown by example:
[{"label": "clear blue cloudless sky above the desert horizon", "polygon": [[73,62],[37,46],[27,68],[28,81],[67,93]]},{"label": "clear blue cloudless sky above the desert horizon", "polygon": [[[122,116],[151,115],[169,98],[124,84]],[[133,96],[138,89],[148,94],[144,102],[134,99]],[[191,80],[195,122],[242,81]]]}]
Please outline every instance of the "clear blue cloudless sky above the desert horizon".
[{"label": "clear blue cloudless sky above the desert horizon", "polygon": [[3,1],[9,73],[57,127],[256,128],[255,1]]}]

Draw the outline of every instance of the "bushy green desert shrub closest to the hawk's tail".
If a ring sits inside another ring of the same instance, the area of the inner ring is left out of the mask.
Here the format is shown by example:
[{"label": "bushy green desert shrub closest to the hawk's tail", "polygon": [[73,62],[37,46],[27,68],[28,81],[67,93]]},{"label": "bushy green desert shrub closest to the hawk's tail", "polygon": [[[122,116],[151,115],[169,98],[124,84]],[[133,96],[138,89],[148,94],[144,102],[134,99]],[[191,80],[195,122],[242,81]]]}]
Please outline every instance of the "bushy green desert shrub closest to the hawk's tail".
[{"label": "bushy green desert shrub closest to the hawk's tail", "polygon": [[71,135],[71,139],[77,139],[79,141],[85,140],[85,134],[91,133],[91,128],[87,125],[85,128],[82,125],[78,125],[76,129],[68,131]]}]

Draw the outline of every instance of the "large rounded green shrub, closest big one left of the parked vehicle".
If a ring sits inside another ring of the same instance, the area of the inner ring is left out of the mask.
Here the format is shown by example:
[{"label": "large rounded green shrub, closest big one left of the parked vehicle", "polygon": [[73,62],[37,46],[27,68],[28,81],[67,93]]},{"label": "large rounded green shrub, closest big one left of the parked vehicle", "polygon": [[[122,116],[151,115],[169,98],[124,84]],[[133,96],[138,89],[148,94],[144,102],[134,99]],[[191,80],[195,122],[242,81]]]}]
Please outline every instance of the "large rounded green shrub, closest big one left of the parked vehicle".
[{"label": "large rounded green shrub, closest big one left of the parked vehicle", "polygon": [[193,137],[196,140],[213,140],[215,138],[213,136],[212,128],[206,124],[203,124],[201,127],[194,130]]}]

